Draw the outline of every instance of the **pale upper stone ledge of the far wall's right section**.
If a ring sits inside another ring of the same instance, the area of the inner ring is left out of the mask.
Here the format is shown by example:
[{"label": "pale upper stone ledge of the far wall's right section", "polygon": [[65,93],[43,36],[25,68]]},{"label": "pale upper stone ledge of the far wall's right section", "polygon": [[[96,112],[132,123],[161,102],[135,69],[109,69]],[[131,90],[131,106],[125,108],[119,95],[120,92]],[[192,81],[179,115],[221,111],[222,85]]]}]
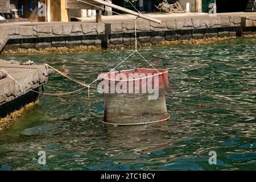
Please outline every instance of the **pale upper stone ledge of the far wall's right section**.
[{"label": "pale upper stone ledge of the far wall's right section", "polygon": [[[162,24],[149,22],[148,20],[137,20],[138,32],[158,32],[170,30],[194,30],[198,28],[221,28],[239,27],[241,25],[240,16],[203,16],[196,18],[170,18],[163,19]],[[113,22],[111,23],[111,34],[134,32],[134,22]]]}]

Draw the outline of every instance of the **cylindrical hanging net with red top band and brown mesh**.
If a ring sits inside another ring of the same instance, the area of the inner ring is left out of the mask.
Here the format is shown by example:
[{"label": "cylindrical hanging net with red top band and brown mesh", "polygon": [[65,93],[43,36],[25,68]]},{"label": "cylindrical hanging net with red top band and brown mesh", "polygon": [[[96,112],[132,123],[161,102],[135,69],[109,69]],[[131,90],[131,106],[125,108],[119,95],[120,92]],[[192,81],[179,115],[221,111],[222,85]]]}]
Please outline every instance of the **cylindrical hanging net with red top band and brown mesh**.
[{"label": "cylindrical hanging net with red top band and brown mesh", "polygon": [[106,123],[142,125],[169,118],[164,89],[168,71],[131,69],[110,74],[99,77],[105,96]]}]

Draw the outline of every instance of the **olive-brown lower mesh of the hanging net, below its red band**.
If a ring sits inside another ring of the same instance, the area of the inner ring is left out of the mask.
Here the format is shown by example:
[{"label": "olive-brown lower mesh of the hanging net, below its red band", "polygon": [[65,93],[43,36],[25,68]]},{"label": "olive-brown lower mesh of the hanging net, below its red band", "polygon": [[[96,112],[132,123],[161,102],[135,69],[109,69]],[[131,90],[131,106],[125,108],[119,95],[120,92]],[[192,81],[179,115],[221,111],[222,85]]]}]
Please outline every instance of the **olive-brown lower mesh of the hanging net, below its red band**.
[{"label": "olive-brown lower mesh of the hanging net, below its red band", "polygon": [[151,94],[104,94],[104,121],[115,125],[142,125],[167,119],[164,89],[158,97],[149,100]]}]

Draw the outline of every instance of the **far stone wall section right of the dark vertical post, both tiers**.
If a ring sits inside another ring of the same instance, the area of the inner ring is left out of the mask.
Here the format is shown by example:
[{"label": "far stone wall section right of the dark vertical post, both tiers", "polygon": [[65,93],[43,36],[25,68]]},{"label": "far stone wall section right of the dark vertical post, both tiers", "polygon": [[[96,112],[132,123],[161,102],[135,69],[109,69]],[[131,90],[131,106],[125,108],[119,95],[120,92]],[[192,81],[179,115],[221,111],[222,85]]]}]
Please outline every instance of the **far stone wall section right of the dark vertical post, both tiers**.
[{"label": "far stone wall section right of the dark vertical post, both tiers", "polygon": [[[138,46],[173,40],[236,36],[240,25],[240,16],[172,18],[162,20],[162,24],[139,19],[136,24]],[[134,22],[112,23],[108,47],[134,46],[134,26]]]}]

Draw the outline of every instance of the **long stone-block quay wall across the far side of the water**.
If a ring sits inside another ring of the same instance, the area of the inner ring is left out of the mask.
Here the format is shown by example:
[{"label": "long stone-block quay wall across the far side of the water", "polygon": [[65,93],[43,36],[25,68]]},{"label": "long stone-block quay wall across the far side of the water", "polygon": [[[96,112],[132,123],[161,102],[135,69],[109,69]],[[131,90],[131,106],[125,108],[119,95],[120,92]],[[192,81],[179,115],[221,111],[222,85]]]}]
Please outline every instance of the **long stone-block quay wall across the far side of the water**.
[{"label": "long stone-block quay wall across the far side of the water", "polygon": [[[256,33],[255,27],[256,14],[168,17],[162,18],[162,24],[138,19],[138,45],[161,44],[172,40],[243,36]],[[1,35],[3,34],[5,36],[0,39],[0,46],[6,44],[5,50],[73,48],[80,45],[104,48],[134,46],[132,20],[105,23],[30,23],[7,27],[7,32],[1,32]]]}]

